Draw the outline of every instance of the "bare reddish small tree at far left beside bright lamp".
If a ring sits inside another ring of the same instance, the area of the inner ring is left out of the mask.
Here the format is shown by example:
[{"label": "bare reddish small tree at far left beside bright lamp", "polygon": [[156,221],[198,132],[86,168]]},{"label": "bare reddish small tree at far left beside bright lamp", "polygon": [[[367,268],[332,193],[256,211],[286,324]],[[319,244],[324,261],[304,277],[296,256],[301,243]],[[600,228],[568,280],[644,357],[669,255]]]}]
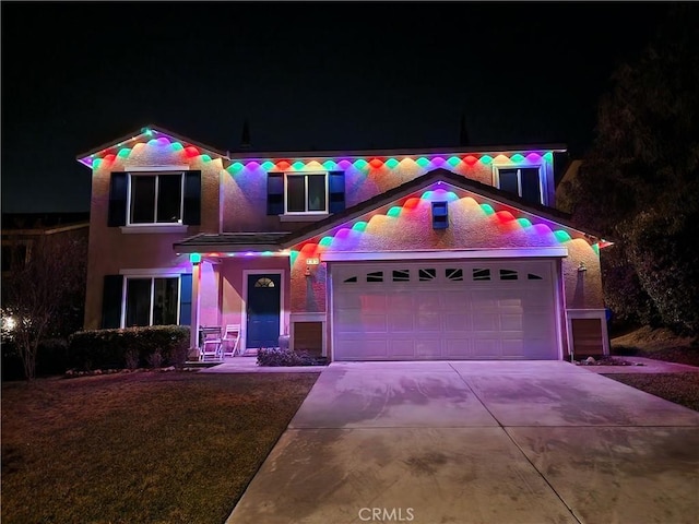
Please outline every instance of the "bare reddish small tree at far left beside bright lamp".
[{"label": "bare reddish small tree at far left beside bright lamp", "polygon": [[26,261],[13,264],[3,283],[2,335],[19,353],[28,380],[36,372],[39,344],[80,329],[85,293],[86,238],[37,237]]}]

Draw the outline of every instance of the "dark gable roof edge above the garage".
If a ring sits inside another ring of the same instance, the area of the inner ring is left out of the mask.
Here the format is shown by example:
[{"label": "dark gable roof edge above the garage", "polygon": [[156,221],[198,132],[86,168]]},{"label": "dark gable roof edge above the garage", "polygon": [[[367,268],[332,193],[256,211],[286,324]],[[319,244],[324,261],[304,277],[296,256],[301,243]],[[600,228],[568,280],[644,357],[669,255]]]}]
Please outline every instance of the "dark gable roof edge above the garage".
[{"label": "dark gable roof edge above the garage", "polygon": [[390,189],[381,194],[377,194],[369,200],[359,202],[352,207],[347,207],[341,213],[336,213],[327,218],[323,218],[322,221],[308,224],[307,226],[286,236],[281,241],[281,247],[291,248],[294,245],[300,243],[305,240],[309,240],[313,237],[318,237],[323,233],[342,225],[343,223],[359,218],[362,215],[365,215],[376,209],[386,206],[395,200],[407,196],[415,191],[419,191],[420,189],[439,181],[447,182],[459,189],[463,189],[464,191],[470,191],[478,196],[496,201],[517,210],[536,215],[544,219],[555,222],[556,224],[559,224],[561,226],[580,231],[583,235],[602,238],[600,235],[580,230],[570,222],[570,215],[568,213],[564,213],[554,207],[548,207],[542,204],[532,204],[517,195],[513,195],[512,193],[502,191],[501,189],[481,183],[476,180],[469,179],[462,175],[457,175],[447,169],[438,168],[426,172],[420,177],[414,178],[401,186]]}]

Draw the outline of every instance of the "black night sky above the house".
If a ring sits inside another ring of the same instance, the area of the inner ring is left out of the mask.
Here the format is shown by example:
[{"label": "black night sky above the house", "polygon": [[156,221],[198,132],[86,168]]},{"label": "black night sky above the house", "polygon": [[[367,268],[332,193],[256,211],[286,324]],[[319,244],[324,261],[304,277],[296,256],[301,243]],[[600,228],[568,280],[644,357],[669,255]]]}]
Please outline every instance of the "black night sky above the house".
[{"label": "black night sky above the house", "polygon": [[11,2],[2,211],[90,207],[75,156],[155,123],[236,151],[556,142],[580,155],[651,2]]}]

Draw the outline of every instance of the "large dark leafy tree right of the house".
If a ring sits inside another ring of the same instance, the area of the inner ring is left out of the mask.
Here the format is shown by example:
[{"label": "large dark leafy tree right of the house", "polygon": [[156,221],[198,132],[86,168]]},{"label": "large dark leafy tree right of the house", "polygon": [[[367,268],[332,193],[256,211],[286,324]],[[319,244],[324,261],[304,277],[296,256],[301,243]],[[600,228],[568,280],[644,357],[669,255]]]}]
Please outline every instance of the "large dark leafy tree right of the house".
[{"label": "large dark leafy tree right of the house", "polygon": [[[573,221],[617,242],[614,300],[652,302],[660,321],[699,332],[699,38],[695,4],[674,4],[640,57],[613,74],[596,135],[568,192]],[[603,254],[604,264],[604,254]],[[607,270],[609,269],[607,264]],[[649,312],[652,317],[653,312]]]}]

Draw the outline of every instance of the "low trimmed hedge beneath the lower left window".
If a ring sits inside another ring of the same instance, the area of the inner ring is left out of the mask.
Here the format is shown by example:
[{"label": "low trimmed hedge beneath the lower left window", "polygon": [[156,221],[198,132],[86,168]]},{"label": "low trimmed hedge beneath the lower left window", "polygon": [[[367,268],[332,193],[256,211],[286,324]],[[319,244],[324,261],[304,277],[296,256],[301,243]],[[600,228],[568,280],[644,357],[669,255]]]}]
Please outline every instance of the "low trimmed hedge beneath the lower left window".
[{"label": "low trimmed hedge beneath the lower left window", "polygon": [[69,337],[66,366],[79,370],[133,369],[146,364],[181,368],[188,347],[187,325],[79,331]]}]

